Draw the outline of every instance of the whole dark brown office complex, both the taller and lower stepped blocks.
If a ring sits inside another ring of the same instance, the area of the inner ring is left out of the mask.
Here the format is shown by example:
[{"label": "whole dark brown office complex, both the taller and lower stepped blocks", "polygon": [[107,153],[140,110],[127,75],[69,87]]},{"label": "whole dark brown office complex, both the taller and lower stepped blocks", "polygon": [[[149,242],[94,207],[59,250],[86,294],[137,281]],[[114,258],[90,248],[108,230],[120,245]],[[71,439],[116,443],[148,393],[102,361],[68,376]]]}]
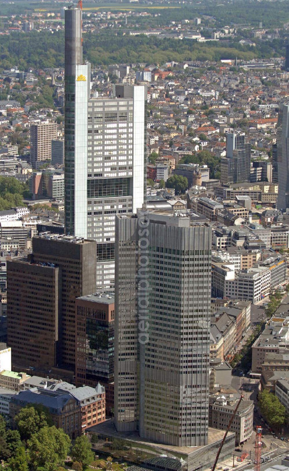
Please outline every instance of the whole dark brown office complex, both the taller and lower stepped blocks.
[{"label": "whole dark brown office complex, both the taller and lower stepped blocks", "polygon": [[29,260],[7,264],[8,345],[13,365],[74,371],[75,299],[95,289],[96,244],[33,237]]}]

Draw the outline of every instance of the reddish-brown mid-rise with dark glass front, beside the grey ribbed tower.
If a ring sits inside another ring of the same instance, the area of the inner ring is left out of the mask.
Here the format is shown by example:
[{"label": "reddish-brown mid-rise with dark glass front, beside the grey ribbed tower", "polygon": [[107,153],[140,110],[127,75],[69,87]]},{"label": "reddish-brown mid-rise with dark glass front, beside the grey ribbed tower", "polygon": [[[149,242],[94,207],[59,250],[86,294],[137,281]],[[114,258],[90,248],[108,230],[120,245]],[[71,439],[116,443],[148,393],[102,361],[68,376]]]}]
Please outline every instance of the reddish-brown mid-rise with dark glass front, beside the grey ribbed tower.
[{"label": "reddish-brown mid-rise with dark glass front, beside the grey ribbed tower", "polygon": [[88,295],[77,298],[76,385],[105,387],[107,414],[113,407],[114,386],[114,296]]}]

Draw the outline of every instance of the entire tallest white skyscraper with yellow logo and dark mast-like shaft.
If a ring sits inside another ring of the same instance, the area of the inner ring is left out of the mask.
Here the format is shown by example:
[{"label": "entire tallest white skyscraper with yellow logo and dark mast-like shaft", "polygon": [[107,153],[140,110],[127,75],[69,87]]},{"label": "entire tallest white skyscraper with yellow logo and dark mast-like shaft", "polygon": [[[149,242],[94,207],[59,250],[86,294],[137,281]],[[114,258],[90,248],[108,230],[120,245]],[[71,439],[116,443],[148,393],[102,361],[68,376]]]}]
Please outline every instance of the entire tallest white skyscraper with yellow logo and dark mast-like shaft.
[{"label": "entire tallest white skyscraper with yellow logo and dark mast-like shaft", "polygon": [[115,215],[144,200],[147,88],[116,85],[90,98],[81,10],[65,11],[65,226],[97,242],[99,291],[114,288]]}]

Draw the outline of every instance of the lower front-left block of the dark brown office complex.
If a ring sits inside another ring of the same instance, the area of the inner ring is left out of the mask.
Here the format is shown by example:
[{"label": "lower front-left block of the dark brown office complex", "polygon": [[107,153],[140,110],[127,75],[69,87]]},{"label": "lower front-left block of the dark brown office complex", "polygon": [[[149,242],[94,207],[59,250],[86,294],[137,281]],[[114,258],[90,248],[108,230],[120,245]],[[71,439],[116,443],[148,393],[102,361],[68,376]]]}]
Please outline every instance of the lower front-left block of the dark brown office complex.
[{"label": "lower front-left block of the dark brown office complex", "polygon": [[8,345],[13,364],[27,367],[56,364],[61,312],[58,267],[7,261]]}]

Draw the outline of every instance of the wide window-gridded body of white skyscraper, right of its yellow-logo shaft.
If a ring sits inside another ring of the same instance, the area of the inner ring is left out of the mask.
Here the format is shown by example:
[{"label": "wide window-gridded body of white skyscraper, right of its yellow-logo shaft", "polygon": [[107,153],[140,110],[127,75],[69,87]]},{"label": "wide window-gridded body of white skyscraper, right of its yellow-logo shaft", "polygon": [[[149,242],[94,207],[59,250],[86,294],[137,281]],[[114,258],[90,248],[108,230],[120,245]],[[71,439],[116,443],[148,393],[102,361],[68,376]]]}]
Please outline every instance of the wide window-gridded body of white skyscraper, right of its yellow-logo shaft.
[{"label": "wide window-gridded body of white skyscraper, right of its yellow-logo shaft", "polygon": [[147,88],[128,85],[88,101],[87,237],[97,242],[99,291],[114,290],[116,214],[144,202],[146,104]]}]

